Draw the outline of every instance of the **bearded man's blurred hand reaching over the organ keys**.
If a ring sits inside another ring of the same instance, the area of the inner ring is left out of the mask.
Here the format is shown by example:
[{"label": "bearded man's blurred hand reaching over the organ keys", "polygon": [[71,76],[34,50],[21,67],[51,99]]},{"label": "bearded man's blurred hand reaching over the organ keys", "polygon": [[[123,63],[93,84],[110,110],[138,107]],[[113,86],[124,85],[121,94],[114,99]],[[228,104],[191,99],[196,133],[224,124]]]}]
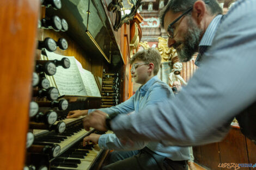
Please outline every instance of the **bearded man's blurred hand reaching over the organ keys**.
[{"label": "bearded man's blurred hand reaching over the organ keys", "polygon": [[100,131],[106,131],[106,116],[107,114],[100,110],[91,112],[89,116],[83,119],[84,129],[89,131],[90,127],[92,127]]}]

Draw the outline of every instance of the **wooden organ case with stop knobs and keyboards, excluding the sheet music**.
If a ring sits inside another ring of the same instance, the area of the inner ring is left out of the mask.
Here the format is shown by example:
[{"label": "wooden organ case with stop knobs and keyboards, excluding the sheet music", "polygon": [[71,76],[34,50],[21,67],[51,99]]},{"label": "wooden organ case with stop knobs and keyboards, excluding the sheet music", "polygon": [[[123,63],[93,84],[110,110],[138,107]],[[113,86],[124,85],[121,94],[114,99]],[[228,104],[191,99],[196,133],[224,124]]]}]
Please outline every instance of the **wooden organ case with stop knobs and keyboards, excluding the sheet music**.
[{"label": "wooden organ case with stop knobs and keyboards, excluding the sheet music", "polygon": [[[82,118],[66,120],[65,116],[70,110],[100,108],[104,105],[102,101],[105,100],[109,106],[109,103],[117,104],[131,96],[129,89],[125,88],[131,83],[130,26],[124,24],[118,32],[113,30],[115,16],[107,11],[109,2],[111,1],[0,2],[0,50],[3,59],[0,64],[0,169],[100,168],[109,151],[101,150],[97,146],[82,147],[81,140],[94,132],[94,129],[85,131],[82,128]],[[55,16],[58,16],[58,19],[54,18]],[[68,29],[65,28],[67,26]],[[52,40],[46,41],[47,38]],[[60,38],[66,40],[64,46],[67,43],[67,49],[62,47]],[[102,85],[104,77],[108,73],[118,73],[118,90],[114,91],[119,94],[116,97],[118,100],[109,102],[109,98],[112,97],[102,97],[102,100],[101,97],[91,96],[62,96],[56,99],[51,98],[51,95],[48,98],[41,95],[44,92],[39,90],[43,88],[40,85],[33,87],[32,75],[38,74],[35,73],[35,67],[40,63],[38,60],[41,54],[45,54],[46,46],[48,45],[48,50],[51,50],[54,42],[58,46],[54,53],[75,56],[84,69],[92,72],[102,93],[104,89],[109,88]],[[49,98],[57,100],[54,108]],[[61,99],[68,100],[68,108],[55,107]],[[29,109],[33,102],[39,105],[37,118],[29,117]],[[40,111],[44,114],[38,114]],[[58,118],[57,121],[53,118],[54,121],[51,122],[46,116]],[[35,123],[35,120],[40,123]],[[65,123],[61,125],[61,122]],[[43,130],[35,130],[40,129],[39,127]],[[66,158],[71,160],[66,161]],[[66,166],[61,166],[62,163]]]}]

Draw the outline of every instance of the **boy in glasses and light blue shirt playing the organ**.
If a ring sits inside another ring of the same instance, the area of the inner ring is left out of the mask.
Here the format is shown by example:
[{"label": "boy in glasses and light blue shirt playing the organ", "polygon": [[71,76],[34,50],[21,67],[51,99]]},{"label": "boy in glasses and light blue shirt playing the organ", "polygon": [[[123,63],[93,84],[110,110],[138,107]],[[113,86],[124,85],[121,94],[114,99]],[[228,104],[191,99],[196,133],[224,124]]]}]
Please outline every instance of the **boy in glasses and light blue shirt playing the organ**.
[{"label": "boy in glasses and light blue shirt playing the organ", "polygon": [[[161,55],[156,49],[140,51],[132,56],[130,62],[132,77],[142,86],[124,103],[99,110],[107,114],[128,114],[174,97],[170,87],[157,78]],[[87,115],[87,113],[88,110],[70,111],[68,118]],[[187,169],[186,160],[190,159],[188,147],[170,147],[165,144],[165,141],[122,144],[114,134],[91,134],[84,138],[83,143],[86,144],[89,141],[99,143],[102,149],[122,150],[111,153],[110,163],[112,164],[106,166],[105,169]]]}]

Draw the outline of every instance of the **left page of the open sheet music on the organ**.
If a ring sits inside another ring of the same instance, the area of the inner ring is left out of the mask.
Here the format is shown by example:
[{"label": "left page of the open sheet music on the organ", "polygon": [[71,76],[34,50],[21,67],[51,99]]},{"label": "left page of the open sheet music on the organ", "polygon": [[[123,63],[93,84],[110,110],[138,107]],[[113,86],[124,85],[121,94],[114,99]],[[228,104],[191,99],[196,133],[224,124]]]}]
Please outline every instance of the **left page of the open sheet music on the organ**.
[{"label": "left page of the open sheet music on the organ", "polygon": [[64,57],[70,60],[70,67],[68,69],[59,66],[57,67],[56,74],[53,75],[60,96],[88,96],[84,88],[83,80],[78,70],[75,57],[59,55],[48,51],[46,51],[46,54],[48,60],[61,60]]}]

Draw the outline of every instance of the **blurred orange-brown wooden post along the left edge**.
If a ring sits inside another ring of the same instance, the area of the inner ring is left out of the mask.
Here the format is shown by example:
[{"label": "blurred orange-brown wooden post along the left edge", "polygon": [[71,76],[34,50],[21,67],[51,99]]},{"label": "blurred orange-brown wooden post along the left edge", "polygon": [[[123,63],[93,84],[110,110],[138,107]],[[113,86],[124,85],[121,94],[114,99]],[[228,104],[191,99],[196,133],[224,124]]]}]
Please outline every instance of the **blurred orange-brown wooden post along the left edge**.
[{"label": "blurred orange-brown wooden post along the left edge", "polygon": [[0,169],[24,166],[39,1],[0,1]]}]

